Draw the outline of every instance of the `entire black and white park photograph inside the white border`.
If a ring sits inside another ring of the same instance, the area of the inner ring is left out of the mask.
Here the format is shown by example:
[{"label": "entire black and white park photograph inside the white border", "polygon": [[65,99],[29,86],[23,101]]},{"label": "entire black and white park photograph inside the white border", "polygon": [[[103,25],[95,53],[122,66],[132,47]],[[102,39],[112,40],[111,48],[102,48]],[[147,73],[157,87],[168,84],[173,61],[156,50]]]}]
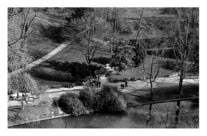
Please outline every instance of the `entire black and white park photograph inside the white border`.
[{"label": "entire black and white park photograph inside the white border", "polygon": [[7,7],[8,129],[198,129],[199,7],[138,6]]}]

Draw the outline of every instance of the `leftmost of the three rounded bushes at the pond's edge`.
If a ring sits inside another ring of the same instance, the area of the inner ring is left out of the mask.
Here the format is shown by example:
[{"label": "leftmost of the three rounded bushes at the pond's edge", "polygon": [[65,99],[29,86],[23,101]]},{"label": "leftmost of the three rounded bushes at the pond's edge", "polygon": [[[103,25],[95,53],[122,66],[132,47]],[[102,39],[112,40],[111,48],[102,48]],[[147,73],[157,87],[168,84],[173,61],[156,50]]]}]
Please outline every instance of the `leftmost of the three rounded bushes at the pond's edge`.
[{"label": "leftmost of the three rounded bushes at the pond's edge", "polygon": [[61,95],[58,100],[58,105],[60,109],[67,114],[77,116],[87,113],[83,103],[78,99],[77,95],[75,94],[67,93]]}]

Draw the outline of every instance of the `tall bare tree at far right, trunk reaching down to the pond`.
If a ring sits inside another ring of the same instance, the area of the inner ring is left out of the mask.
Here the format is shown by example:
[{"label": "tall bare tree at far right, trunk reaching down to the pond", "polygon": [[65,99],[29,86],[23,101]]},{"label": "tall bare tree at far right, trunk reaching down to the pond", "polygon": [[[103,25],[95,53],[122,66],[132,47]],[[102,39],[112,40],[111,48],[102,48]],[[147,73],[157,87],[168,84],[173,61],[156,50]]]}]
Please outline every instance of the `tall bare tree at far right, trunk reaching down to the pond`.
[{"label": "tall bare tree at far right, trunk reaching down to the pond", "polygon": [[[179,71],[179,85],[177,92],[180,97],[183,96],[183,80],[187,72],[194,67],[198,67],[196,60],[198,55],[198,9],[197,8],[179,8],[177,11],[177,20],[174,26],[174,53],[177,59],[177,68]],[[197,50],[195,48],[197,47]],[[196,55],[192,58],[192,55]],[[180,101],[177,101],[176,124],[180,112]]]}]

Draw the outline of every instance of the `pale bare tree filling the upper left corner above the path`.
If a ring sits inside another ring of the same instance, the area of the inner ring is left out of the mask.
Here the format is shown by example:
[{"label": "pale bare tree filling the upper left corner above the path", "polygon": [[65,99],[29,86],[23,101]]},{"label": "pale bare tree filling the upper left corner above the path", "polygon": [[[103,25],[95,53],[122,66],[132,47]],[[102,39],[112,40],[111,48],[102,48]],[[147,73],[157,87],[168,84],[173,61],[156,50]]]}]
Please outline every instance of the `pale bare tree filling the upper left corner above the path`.
[{"label": "pale bare tree filling the upper left corner above the path", "polygon": [[8,8],[8,70],[21,68],[32,61],[27,51],[27,38],[33,32],[36,12],[30,8]]}]

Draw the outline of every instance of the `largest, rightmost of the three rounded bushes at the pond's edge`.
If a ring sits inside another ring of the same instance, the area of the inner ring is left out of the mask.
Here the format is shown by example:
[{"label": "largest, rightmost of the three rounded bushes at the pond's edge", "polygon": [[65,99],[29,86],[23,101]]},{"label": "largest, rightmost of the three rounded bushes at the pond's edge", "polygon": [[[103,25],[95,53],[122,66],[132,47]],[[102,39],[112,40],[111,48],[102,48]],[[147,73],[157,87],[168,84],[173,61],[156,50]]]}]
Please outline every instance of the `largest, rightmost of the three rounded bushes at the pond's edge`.
[{"label": "largest, rightmost of the three rounded bushes at the pond's edge", "polygon": [[124,95],[115,86],[105,85],[95,95],[93,109],[97,112],[117,113],[125,111],[126,108]]}]

